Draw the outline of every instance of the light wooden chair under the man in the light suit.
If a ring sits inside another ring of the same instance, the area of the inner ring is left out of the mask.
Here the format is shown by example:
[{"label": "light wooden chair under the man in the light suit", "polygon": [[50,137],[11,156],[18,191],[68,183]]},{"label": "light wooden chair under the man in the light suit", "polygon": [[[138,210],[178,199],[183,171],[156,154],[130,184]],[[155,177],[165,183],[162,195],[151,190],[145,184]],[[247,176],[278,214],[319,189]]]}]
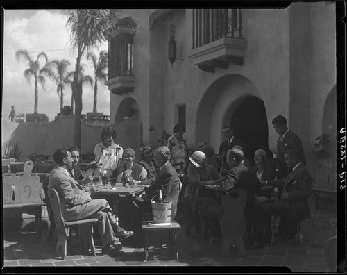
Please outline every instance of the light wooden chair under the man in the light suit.
[{"label": "light wooden chair under the man in the light suit", "polygon": [[69,237],[69,231],[71,226],[83,225],[85,227],[87,242],[92,255],[96,255],[94,239],[93,239],[93,224],[98,222],[98,219],[81,219],[76,221],[65,222],[64,217],[62,217],[62,210],[60,208],[60,199],[58,192],[53,188],[48,188],[49,202],[51,203],[51,208],[53,209],[54,221],[56,222],[56,227],[58,231],[58,241],[56,245],[56,253],[60,254],[62,260],[67,256],[67,238]]}]

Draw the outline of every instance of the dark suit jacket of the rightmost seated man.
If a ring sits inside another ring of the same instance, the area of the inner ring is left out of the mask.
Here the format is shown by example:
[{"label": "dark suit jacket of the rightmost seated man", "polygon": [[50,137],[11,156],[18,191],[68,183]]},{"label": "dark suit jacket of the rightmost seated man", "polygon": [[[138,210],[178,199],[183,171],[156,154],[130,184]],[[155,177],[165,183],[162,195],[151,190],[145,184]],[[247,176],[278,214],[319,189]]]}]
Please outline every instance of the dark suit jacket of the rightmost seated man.
[{"label": "dark suit jacket of the rightmost seated man", "polygon": [[[294,171],[291,170],[287,178],[269,181],[269,184],[282,188],[282,194],[285,191],[288,192],[288,199],[285,202],[289,203],[291,214],[297,219],[309,219],[311,217],[307,199],[311,192],[312,177],[303,163],[298,165]],[[281,200],[282,194],[280,194]]]}]

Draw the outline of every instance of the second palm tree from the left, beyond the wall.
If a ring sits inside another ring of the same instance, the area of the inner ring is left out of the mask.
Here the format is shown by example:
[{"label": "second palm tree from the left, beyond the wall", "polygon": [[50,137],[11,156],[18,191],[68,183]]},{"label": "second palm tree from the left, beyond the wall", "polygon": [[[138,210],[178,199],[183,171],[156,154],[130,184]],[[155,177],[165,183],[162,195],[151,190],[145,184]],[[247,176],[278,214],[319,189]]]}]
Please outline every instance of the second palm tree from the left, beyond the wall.
[{"label": "second palm tree from the left, beyond the wall", "polygon": [[60,114],[62,114],[62,106],[64,104],[64,89],[66,85],[71,85],[72,74],[67,72],[67,69],[71,63],[66,60],[53,60],[47,63],[47,75],[57,85],[57,94],[60,95]]}]

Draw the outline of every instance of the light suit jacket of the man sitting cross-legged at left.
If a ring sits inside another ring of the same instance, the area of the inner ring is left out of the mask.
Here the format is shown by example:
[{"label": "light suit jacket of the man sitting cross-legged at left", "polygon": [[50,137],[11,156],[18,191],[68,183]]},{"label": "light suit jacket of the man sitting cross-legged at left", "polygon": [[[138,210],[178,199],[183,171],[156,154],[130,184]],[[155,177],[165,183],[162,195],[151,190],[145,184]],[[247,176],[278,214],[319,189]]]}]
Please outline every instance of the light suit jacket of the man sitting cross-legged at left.
[{"label": "light suit jacket of the man sitting cross-legged at left", "polygon": [[75,213],[80,213],[81,210],[83,210],[83,203],[92,200],[89,192],[83,191],[81,185],[79,185],[74,178],[69,176],[67,170],[59,166],[56,166],[51,171],[48,188],[57,190],[60,198],[62,215],[66,221],[69,221],[71,217],[76,217]]}]

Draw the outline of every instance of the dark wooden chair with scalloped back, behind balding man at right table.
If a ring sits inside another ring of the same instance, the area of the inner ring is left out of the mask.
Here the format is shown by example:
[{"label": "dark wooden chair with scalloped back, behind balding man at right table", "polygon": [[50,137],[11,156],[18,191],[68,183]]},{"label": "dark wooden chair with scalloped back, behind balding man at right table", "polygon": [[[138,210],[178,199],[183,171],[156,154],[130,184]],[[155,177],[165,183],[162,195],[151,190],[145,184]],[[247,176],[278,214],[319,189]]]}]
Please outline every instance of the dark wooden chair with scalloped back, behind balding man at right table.
[{"label": "dark wooden chair with scalloped back, behind balding man at right table", "polygon": [[246,218],[244,217],[246,201],[246,191],[241,188],[232,188],[228,194],[221,194],[221,203],[224,209],[224,215],[221,218],[223,256],[228,255],[232,244],[237,246],[239,257],[246,255],[243,239],[246,232]]}]

